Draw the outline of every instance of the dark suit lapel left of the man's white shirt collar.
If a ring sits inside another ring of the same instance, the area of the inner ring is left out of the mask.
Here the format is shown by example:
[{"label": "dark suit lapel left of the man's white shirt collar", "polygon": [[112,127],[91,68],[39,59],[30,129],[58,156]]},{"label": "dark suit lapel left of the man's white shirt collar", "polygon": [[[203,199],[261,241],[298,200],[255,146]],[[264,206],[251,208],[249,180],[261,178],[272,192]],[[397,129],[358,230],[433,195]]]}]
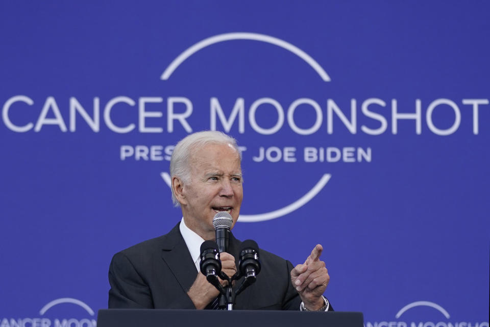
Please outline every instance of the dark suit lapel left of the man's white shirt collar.
[{"label": "dark suit lapel left of the man's white shirt collar", "polygon": [[180,233],[179,224],[170,230],[163,241],[162,259],[174,274],[182,290],[187,292],[195,281],[197,271]]}]

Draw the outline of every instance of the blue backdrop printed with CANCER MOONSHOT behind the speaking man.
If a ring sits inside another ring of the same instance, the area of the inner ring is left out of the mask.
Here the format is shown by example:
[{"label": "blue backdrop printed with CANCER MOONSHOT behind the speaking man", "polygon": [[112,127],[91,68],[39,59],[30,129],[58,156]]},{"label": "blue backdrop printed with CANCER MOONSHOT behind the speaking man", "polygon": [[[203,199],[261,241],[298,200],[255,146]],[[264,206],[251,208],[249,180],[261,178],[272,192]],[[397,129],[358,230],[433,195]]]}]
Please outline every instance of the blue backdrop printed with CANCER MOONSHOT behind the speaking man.
[{"label": "blue backdrop printed with CANCER MOONSHOT behind the speaking man", "polygon": [[488,10],[2,2],[0,325],[95,325],[112,255],[181,218],[172,146],[217,129],[244,147],[235,235],[323,244],[336,310],[488,326]]}]

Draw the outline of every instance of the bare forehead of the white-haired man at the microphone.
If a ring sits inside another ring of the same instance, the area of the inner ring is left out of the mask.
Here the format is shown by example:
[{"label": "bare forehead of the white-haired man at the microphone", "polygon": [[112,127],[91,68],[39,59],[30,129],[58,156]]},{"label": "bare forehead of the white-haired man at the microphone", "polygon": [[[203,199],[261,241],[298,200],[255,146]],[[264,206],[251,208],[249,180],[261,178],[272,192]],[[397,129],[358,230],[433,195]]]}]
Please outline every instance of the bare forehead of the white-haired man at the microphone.
[{"label": "bare forehead of the white-haired man at the microphone", "polygon": [[240,156],[231,144],[208,144],[192,151],[192,172],[219,170],[224,173],[241,173]]}]

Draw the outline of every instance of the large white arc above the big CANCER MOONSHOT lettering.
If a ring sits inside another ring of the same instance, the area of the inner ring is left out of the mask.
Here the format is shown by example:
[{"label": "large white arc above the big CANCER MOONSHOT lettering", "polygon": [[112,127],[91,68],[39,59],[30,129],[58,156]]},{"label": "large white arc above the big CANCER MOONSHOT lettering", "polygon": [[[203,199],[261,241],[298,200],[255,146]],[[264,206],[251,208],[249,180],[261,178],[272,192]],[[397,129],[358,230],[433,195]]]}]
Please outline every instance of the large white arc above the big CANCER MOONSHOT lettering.
[{"label": "large white arc above the big CANCER MOONSHOT lettering", "polygon": [[206,46],[209,46],[214,43],[230,41],[230,40],[254,40],[254,41],[261,41],[261,42],[271,43],[280,46],[281,48],[292,52],[293,54],[297,55],[298,57],[306,61],[315,70],[315,72],[318,73],[318,75],[320,75],[320,77],[325,82],[330,82],[330,77],[328,76],[327,72],[325,72],[325,69],[323,69],[323,67],[320,66],[320,64],[318,64],[313,58],[311,58],[310,55],[308,55],[306,52],[304,52],[297,46],[292,45],[291,43],[286,42],[284,40],[278,39],[277,37],[273,37],[265,34],[244,33],[244,32],[219,34],[219,35],[208,37],[204,40],[199,41],[198,43],[195,43],[190,48],[188,48],[183,53],[181,53],[177,58],[174,59],[174,61],[172,61],[168,65],[168,67],[162,73],[160,79],[167,80],[170,77],[170,75],[174,73],[175,69],[177,69],[177,67],[180,66],[181,63],[183,63],[187,58],[192,56],[194,53],[198,52],[203,48],[206,48]]}]

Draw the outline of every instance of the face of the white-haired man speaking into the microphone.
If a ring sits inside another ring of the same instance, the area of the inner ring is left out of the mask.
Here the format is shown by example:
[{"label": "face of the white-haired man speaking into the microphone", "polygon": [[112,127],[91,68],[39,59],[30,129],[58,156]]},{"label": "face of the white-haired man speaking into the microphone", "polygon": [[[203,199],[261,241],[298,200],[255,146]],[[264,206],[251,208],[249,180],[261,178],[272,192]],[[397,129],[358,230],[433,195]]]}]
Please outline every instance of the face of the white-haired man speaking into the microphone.
[{"label": "face of the white-haired man speaking into the microphone", "polygon": [[227,211],[234,225],[240,213],[240,158],[231,145],[210,144],[194,151],[189,165],[190,181],[183,185],[181,201],[185,223],[203,239],[214,239],[214,215]]}]

